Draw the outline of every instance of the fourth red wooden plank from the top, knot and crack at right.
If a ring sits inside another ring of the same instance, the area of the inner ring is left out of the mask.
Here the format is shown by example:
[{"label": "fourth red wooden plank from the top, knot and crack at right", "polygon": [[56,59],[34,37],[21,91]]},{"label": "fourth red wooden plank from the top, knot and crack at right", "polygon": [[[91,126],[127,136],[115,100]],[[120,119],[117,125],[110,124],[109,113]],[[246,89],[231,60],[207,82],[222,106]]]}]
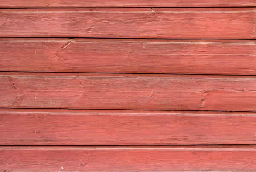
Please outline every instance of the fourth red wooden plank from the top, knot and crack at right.
[{"label": "fourth red wooden plank from the top, knot and crack at right", "polygon": [[256,76],[0,74],[4,108],[256,111]]}]

